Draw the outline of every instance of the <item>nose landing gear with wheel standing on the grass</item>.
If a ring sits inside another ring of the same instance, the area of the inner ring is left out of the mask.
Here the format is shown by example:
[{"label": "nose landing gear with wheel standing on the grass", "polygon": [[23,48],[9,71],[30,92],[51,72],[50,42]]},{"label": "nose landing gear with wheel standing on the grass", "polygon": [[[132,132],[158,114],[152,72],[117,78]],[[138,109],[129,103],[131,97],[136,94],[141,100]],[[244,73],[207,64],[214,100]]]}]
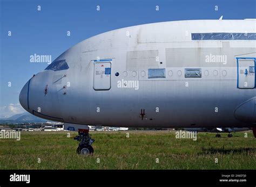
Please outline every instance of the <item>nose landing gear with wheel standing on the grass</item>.
[{"label": "nose landing gear with wheel standing on the grass", "polygon": [[92,143],[95,139],[91,139],[91,134],[89,134],[89,130],[78,130],[78,136],[74,138],[74,140],[79,141],[79,145],[77,148],[77,154],[81,155],[93,155]]}]

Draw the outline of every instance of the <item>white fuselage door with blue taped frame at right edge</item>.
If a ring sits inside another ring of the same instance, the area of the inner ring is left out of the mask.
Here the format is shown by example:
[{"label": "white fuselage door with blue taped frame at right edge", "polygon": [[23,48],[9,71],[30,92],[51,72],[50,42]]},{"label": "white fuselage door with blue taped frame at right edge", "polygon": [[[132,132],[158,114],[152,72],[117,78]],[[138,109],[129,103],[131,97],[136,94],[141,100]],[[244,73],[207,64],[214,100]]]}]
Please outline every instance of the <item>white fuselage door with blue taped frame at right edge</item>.
[{"label": "white fuselage door with blue taped frame at right edge", "polygon": [[255,59],[251,57],[237,58],[238,88],[255,88]]}]

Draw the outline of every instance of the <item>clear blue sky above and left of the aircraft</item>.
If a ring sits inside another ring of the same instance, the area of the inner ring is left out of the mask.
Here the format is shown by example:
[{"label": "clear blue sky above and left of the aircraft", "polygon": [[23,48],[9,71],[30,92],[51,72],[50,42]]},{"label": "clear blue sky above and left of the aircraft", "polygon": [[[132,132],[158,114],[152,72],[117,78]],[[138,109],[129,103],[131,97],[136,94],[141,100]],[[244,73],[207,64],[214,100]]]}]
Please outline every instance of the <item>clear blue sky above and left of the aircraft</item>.
[{"label": "clear blue sky above and left of the aircraft", "polygon": [[[0,117],[23,112],[18,96],[29,78],[78,42],[117,28],[159,21],[256,18],[256,0],[0,0]],[[37,11],[37,6],[41,11]],[[100,11],[97,11],[97,5]],[[156,11],[156,5],[159,11]],[[215,11],[215,5],[218,11]],[[11,37],[8,36],[11,31]],[[70,37],[66,35],[71,32]],[[8,83],[11,82],[11,87]]]}]

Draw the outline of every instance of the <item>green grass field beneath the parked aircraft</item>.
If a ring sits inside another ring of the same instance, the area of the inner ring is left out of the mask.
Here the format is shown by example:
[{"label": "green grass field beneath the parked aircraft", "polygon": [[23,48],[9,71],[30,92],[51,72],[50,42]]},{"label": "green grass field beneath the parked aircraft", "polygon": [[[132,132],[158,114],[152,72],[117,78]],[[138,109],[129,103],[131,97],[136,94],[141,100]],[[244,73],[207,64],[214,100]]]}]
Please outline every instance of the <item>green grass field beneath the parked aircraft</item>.
[{"label": "green grass field beneath the parked aircraft", "polygon": [[199,133],[197,141],[176,139],[171,131],[128,131],[130,138],[127,132],[91,132],[93,156],[77,155],[77,133],[67,133],[22,132],[20,141],[0,139],[0,169],[256,169],[252,132],[248,138],[244,132],[232,138]]}]

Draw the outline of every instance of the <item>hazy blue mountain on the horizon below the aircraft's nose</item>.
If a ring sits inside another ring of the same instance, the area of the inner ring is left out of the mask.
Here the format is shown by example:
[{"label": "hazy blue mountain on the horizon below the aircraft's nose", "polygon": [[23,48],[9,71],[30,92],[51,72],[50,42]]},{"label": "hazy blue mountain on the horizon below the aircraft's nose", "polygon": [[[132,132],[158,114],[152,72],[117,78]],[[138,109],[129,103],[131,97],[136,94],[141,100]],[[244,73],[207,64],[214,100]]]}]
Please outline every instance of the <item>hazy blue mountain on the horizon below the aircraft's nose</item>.
[{"label": "hazy blue mountain on the horizon below the aircraft's nose", "polygon": [[38,118],[31,113],[25,112],[21,114],[15,114],[9,118],[0,119],[0,124],[17,124],[17,123],[43,123],[49,120]]}]

